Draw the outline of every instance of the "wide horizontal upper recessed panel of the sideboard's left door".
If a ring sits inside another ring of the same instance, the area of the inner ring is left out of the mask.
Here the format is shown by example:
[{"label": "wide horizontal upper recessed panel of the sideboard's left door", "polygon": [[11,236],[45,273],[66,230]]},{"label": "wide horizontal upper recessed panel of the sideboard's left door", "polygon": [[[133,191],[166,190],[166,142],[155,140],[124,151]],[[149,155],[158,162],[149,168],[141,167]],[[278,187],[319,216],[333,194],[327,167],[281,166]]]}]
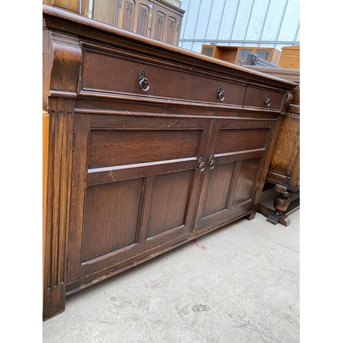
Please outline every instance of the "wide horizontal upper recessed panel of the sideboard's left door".
[{"label": "wide horizontal upper recessed panel of the sideboard's left door", "polygon": [[88,168],[196,156],[202,130],[91,130]]}]

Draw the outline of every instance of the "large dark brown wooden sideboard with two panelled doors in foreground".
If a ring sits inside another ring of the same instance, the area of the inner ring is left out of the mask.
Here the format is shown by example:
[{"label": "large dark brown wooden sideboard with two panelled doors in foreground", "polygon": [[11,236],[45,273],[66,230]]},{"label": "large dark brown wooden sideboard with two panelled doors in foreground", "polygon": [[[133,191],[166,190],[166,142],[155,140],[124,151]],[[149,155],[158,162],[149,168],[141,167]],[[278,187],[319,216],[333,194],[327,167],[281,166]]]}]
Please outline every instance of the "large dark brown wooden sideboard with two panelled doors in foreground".
[{"label": "large dark brown wooden sideboard with two panelled doors in foreground", "polygon": [[43,318],[258,206],[295,84],[43,6]]}]

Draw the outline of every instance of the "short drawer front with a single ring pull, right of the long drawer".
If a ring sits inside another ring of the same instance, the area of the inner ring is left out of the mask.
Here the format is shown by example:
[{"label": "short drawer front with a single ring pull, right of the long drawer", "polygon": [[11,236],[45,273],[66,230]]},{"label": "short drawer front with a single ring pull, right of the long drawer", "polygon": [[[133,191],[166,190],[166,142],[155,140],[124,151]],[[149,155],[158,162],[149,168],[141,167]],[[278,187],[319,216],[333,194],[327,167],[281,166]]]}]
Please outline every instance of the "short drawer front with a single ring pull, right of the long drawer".
[{"label": "short drawer front with a single ring pull, right of the long drawer", "polygon": [[244,106],[280,110],[283,105],[283,97],[284,93],[281,92],[261,88],[260,86],[248,86]]}]

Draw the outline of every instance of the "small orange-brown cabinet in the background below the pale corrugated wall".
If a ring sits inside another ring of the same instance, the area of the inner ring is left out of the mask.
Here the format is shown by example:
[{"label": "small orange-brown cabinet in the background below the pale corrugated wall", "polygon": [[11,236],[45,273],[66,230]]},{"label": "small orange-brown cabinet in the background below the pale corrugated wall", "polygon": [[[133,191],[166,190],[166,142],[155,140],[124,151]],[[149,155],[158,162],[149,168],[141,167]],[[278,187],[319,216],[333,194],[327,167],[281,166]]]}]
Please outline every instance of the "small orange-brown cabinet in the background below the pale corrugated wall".
[{"label": "small orange-brown cabinet in the background below the pale corrugated wall", "polygon": [[233,47],[226,45],[202,45],[202,54],[237,65],[245,65],[248,54],[259,55],[259,58],[272,64],[278,64],[281,52],[269,47]]}]

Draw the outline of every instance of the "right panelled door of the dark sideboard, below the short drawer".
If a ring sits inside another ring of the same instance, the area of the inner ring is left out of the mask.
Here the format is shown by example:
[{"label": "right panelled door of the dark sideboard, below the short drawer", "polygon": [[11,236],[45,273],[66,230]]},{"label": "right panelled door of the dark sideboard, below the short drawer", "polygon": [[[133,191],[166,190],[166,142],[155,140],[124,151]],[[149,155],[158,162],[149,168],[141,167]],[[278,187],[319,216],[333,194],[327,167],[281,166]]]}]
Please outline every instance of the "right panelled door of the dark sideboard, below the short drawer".
[{"label": "right panelled door of the dark sideboard, below the short drawer", "polygon": [[215,120],[195,230],[248,214],[252,209],[275,126],[276,122],[270,120]]}]

